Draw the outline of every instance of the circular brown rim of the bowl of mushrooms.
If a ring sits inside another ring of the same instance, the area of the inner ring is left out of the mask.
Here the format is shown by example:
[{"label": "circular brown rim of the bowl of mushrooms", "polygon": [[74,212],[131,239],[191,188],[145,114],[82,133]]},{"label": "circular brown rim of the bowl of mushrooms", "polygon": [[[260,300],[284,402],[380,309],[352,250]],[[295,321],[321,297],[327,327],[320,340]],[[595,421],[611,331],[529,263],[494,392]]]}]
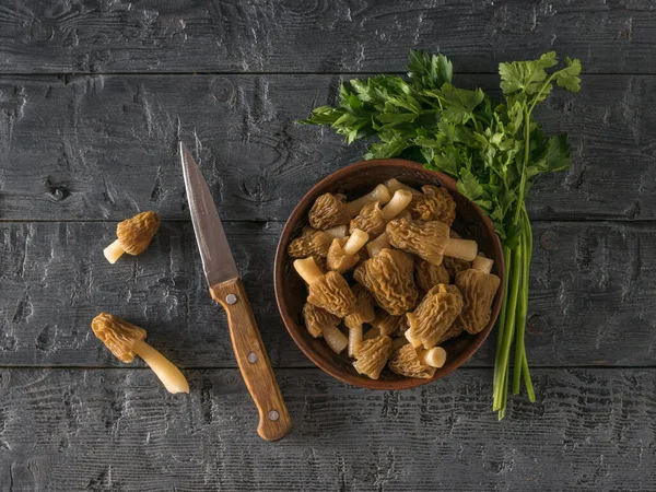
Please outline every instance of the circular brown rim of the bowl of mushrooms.
[{"label": "circular brown rim of the bowl of mushrooms", "polygon": [[[286,247],[288,247],[289,242],[291,241],[291,235],[294,232],[293,225],[296,224],[298,222],[298,220],[303,219],[302,213],[307,208],[311,197],[316,195],[317,191],[321,190],[321,188],[324,188],[327,184],[330,185],[339,179],[345,178],[345,177],[348,177],[349,174],[351,174],[355,171],[376,167],[378,165],[388,165],[388,166],[393,165],[393,166],[402,167],[402,168],[407,168],[407,169],[413,169],[413,171],[417,171],[419,168],[422,172],[432,174],[433,176],[435,176],[437,181],[440,181],[440,184],[442,184],[447,189],[449,189],[449,191],[458,194],[465,200],[469,201],[471,203],[471,206],[475,207],[475,209],[477,210],[479,215],[482,218],[482,222],[483,222],[485,229],[489,232],[492,232],[493,239],[492,239],[491,246],[494,250],[495,256],[500,259],[500,261],[497,261],[497,274],[501,279],[501,283],[500,283],[499,291],[496,292],[494,302],[492,304],[492,313],[490,316],[490,321],[488,323],[488,325],[485,326],[485,328],[483,330],[481,330],[479,333],[476,335],[476,338],[472,339],[471,343],[469,343],[467,345],[467,348],[465,350],[462,350],[452,361],[452,364],[449,365],[448,370],[438,371],[436,373],[436,375],[432,378],[424,379],[424,378],[405,377],[401,379],[370,379],[366,376],[359,376],[359,375],[351,374],[343,370],[338,370],[336,364],[326,364],[321,358],[319,358],[315,354],[315,351],[311,344],[311,340],[308,340],[306,337],[303,336],[302,330],[300,329],[302,327],[300,327],[295,323],[293,314],[291,313],[290,307],[288,306],[286,302],[284,301],[282,290],[283,290],[283,285],[284,285],[284,262],[286,259]],[[501,309],[501,302],[503,300],[504,283],[505,283],[505,279],[504,279],[505,266],[504,266],[503,248],[501,246],[501,241],[499,239],[499,236],[494,232],[494,225],[493,225],[492,221],[490,220],[490,218],[482,212],[482,210],[480,209],[480,207],[478,204],[476,204],[475,202],[469,200],[467,197],[462,196],[461,194],[459,194],[457,191],[456,180],[454,178],[452,178],[450,176],[447,176],[446,174],[444,174],[440,171],[427,169],[418,162],[403,160],[403,159],[375,159],[375,160],[371,160],[371,161],[359,161],[359,162],[355,162],[352,164],[344,165],[343,167],[329,174],[328,176],[320,179],[317,184],[315,184],[303,196],[303,198],[298,201],[298,203],[296,203],[296,206],[292,210],[292,213],[290,213],[290,216],[288,218],[288,220],[284,224],[284,227],[282,229],[280,238],[278,241],[278,246],[276,248],[276,260],[274,260],[274,265],[273,265],[273,272],[274,272],[273,289],[274,289],[274,293],[276,293],[276,303],[278,305],[278,311],[280,313],[280,316],[282,318],[284,327],[286,328],[288,332],[290,333],[290,336],[292,337],[292,339],[294,340],[296,345],[305,354],[305,356],[307,356],[321,371],[324,371],[325,373],[328,373],[332,377],[336,377],[337,379],[339,379],[343,383],[348,383],[350,385],[359,386],[359,387],[367,388],[367,389],[384,389],[384,390],[409,389],[409,388],[414,388],[418,386],[422,386],[422,385],[432,383],[434,380],[445,377],[446,375],[450,374],[456,368],[460,367],[465,362],[467,362],[480,349],[480,347],[483,344],[483,342],[488,339],[488,336],[490,335],[490,332],[492,331],[492,328],[494,327],[494,325],[496,323],[496,319],[499,317],[499,313]]]}]

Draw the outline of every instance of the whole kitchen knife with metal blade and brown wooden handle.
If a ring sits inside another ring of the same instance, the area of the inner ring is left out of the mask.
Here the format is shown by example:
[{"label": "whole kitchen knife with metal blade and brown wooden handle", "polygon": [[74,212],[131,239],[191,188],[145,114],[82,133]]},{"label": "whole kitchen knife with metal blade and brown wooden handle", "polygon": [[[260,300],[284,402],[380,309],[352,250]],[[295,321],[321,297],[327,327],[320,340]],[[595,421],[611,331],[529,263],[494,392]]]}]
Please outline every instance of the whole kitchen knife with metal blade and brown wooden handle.
[{"label": "whole kitchen knife with metal blade and brown wooden handle", "polygon": [[235,358],[259,412],[258,434],[266,441],[284,437],[292,426],[273,375],[250,303],[223,232],[214,200],[191,153],[180,141],[187,200],[210,295],[227,315]]}]

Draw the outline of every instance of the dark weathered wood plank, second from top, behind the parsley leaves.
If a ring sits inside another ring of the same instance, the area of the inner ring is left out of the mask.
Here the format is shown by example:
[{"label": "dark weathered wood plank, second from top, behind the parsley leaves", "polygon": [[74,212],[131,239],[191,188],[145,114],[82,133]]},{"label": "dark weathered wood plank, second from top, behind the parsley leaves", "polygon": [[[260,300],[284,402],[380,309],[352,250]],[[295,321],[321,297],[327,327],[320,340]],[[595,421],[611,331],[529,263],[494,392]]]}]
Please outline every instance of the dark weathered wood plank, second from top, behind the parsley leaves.
[{"label": "dark weathered wood plank, second from top, behind the parsley leaves", "polygon": [[[494,75],[465,84],[497,84]],[[154,208],[188,219],[177,139],[196,142],[224,220],[284,220],[319,178],[360,160],[295,124],[332,101],[327,75],[0,79],[0,219],[121,220]],[[569,131],[572,169],[544,177],[535,219],[656,218],[656,77],[589,77],[541,112]]]}]

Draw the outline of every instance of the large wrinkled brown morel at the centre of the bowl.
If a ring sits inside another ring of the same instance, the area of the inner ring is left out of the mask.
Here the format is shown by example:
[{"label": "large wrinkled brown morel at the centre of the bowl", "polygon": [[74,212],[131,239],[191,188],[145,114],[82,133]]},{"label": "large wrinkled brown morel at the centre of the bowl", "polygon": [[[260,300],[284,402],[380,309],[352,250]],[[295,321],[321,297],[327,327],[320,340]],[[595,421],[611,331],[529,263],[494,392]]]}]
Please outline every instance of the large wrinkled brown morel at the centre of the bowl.
[{"label": "large wrinkled brown morel at the centre of the bowl", "polygon": [[353,278],[376,298],[390,315],[402,315],[417,304],[417,286],[412,276],[413,258],[397,249],[383,249],[360,265]]}]

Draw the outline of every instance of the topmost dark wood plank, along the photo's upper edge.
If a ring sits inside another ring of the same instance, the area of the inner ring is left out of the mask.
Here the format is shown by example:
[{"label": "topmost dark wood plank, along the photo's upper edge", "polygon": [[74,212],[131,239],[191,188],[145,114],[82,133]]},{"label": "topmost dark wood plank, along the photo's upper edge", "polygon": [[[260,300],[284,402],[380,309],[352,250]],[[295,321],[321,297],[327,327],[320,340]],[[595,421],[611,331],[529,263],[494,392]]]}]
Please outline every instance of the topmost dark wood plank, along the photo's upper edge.
[{"label": "topmost dark wood plank, along the photo's upper edge", "polygon": [[557,49],[590,72],[654,73],[655,26],[649,0],[4,0],[0,70],[400,71],[421,47],[465,72]]}]

